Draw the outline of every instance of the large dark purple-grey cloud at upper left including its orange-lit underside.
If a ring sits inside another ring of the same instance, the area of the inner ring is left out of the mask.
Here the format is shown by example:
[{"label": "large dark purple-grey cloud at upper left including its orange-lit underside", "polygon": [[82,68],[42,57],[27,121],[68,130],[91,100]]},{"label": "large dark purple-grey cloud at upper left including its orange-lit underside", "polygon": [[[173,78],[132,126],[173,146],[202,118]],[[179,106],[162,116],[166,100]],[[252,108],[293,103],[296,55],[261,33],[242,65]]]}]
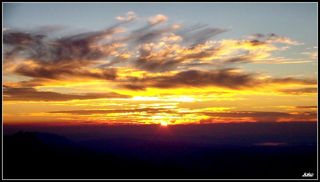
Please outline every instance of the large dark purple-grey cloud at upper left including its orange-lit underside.
[{"label": "large dark purple-grey cloud at upper left including its orange-lit underside", "polygon": [[89,66],[116,50],[114,44],[98,45],[106,35],[116,33],[116,29],[87,32],[48,42],[45,35],[24,32],[8,32],[3,35],[4,67],[11,64],[11,57],[22,54],[30,61],[22,62],[14,72],[33,78],[61,79],[61,76],[84,76],[114,80],[115,69],[100,69],[97,73]]}]

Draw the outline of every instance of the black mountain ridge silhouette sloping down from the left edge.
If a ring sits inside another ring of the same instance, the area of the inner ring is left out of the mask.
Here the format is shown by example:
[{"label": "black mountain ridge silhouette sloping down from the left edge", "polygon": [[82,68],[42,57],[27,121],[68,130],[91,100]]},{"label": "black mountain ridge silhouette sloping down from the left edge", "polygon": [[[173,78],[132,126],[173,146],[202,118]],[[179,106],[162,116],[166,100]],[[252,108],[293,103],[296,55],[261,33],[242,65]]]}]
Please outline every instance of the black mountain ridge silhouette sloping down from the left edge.
[{"label": "black mountain ridge silhouette sloping down from the left edge", "polygon": [[[39,133],[19,131],[4,136],[4,179],[188,178],[193,173],[181,166],[141,162],[75,145],[50,146],[41,142],[37,135]],[[162,174],[163,170],[166,172]],[[179,175],[172,176],[175,172]],[[182,175],[184,172],[188,174]]]}]

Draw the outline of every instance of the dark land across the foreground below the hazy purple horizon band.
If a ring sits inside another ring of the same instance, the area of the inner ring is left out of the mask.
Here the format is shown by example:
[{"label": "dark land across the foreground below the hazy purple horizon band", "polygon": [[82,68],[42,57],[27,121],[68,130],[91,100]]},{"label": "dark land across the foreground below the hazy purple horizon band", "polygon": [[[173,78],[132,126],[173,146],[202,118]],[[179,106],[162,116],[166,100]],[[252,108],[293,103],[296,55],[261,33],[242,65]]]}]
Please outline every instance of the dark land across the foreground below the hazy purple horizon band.
[{"label": "dark land across the foreground below the hazy purple horizon band", "polygon": [[181,142],[161,133],[73,142],[19,131],[3,138],[3,179],[306,179],[309,172],[307,179],[317,179],[316,133],[293,134],[280,145],[266,137],[257,145],[244,139],[252,135],[244,143],[234,136]]}]

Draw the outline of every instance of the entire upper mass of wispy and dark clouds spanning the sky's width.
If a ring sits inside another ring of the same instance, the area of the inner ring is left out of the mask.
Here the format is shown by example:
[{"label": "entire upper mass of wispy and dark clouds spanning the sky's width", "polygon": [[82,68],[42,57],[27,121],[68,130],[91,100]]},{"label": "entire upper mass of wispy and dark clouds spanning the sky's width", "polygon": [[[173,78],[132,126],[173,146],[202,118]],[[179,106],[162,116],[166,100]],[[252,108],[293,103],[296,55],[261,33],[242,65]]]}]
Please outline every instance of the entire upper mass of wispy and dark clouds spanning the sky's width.
[{"label": "entire upper mass of wispy and dark clouds spanning the sky's width", "polygon": [[[127,12],[126,15],[118,19],[131,21],[136,16],[134,12]],[[33,87],[57,81],[90,82],[91,79],[113,82],[136,91],[190,86],[245,89],[268,84],[316,84],[314,80],[294,78],[257,81],[252,73],[221,68],[227,64],[254,63],[267,59],[271,51],[279,50],[274,45],[276,42],[298,44],[286,37],[272,33],[268,36],[255,34],[251,36],[254,39],[249,40],[212,41],[212,36],[230,29],[209,28],[206,25],[185,28],[181,25],[158,25],[167,19],[161,14],[150,17],[147,25],[128,31],[124,36],[117,34],[123,31],[117,27],[125,22],[100,31],[52,40],[49,40],[47,33],[61,29],[61,26],[40,28],[42,32],[5,31],[5,75],[29,77],[30,80],[5,81],[4,84]],[[118,70],[124,67],[145,73],[140,77],[119,76]],[[175,74],[165,75],[170,71],[175,71]],[[159,74],[152,75],[154,73]]]}]

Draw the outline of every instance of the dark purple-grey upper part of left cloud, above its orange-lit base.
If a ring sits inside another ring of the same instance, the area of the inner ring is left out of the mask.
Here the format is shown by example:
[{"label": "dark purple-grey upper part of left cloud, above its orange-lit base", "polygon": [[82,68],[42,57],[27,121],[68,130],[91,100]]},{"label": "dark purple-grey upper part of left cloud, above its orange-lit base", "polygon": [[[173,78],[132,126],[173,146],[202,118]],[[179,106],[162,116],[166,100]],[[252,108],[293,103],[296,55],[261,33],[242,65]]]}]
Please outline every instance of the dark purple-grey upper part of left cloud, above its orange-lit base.
[{"label": "dark purple-grey upper part of left cloud, above its orange-lit base", "polygon": [[[99,42],[103,36],[116,33],[115,29],[87,32],[74,36],[57,38],[51,42],[45,41],[46,35],[25,32],[8,32],[3,35],[3,43],[13,48],[5,50],[7,56],[20,53],[21,50],[28,59],[46,62],[68,62],[73,59],[99,59],[108,54],[92,48],[93,43]],[[19,50],[15,51],[14,50]]]}]

